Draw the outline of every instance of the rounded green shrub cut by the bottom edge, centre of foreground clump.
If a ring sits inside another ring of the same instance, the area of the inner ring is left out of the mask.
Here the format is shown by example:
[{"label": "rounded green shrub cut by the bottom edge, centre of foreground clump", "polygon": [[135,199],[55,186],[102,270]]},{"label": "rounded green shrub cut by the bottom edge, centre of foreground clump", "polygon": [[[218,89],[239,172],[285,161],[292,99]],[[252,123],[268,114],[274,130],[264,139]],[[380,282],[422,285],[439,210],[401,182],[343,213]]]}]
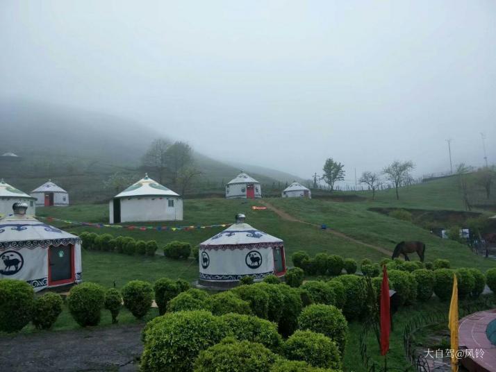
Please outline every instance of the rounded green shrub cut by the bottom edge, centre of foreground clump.
[{"label": "rounded green shrub cut by the bottom edge, centre of foreground clump", "polygon": [[195,361],[196,372],[270,372],[279,356],[256,342],[236,341],[231,337],[201,351]]}]

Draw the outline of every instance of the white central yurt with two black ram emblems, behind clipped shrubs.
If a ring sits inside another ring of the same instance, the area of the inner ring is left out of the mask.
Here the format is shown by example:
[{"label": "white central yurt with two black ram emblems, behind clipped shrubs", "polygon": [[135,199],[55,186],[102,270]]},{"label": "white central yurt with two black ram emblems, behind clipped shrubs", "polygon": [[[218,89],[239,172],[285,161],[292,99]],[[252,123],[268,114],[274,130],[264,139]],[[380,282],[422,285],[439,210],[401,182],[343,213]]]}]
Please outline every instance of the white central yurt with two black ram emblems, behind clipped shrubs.
[{"label": "white central yurt with two black ram emblems, behind clipped shrubs", "polygon": [[236,223],[199,245],[199,285],[233,287],[244,276],[255,281],[286,273],[284,242],[245,223]]}]

